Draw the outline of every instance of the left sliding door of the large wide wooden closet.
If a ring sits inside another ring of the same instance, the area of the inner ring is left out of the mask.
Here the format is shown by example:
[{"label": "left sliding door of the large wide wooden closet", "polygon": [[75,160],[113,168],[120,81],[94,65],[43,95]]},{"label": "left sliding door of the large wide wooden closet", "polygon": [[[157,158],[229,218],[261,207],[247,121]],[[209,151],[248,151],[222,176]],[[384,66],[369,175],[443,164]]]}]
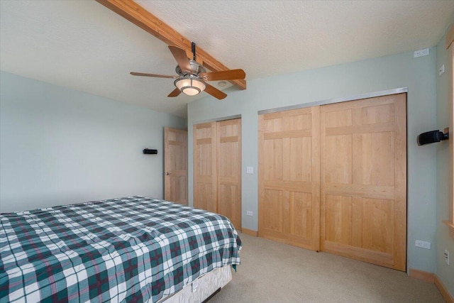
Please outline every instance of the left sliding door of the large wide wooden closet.
[{"label": "left sliding door of the large wide wooden closet", "polygon": [[259,236],[319,250],[319,106],[259,116]]}]

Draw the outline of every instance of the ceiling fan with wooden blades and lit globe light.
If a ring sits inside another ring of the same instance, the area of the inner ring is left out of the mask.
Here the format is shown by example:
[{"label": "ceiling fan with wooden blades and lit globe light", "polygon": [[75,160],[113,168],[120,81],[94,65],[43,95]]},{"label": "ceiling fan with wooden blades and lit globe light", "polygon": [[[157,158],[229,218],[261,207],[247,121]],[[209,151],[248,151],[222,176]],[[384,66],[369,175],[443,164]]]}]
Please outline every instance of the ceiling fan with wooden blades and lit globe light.
[{"label": "ceiling fan with wooden blades and lit globe light", "polygon": [[175,71],[177,76],[145,74],[143,72],[131,72],[133,76],[172,78],[175,79],[175,87],[167,97],[177,97],[181,92],[188,96],[195,96],[201,92],[207,92],[217,99],[224,99],[227,94],[206,83],[206,81],[244,79],[244,70],[223,70],[221,72],[206,72],[205,68],[196,62],[196,44],[192,43],[192,60],[189,60],[186,51],[175,45],[169,45],[170,52],[177,60]]}]

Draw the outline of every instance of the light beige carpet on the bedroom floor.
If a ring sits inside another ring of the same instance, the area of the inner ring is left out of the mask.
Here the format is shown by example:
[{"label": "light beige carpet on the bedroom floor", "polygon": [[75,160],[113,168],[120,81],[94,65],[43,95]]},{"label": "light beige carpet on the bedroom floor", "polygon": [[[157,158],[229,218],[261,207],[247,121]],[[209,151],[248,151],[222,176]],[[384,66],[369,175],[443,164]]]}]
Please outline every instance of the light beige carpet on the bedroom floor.
[{"label": "light beige carpet on the bedroom floor", "polygon": [[240,233],[241,265],[216,302],[444,302],[405,272]]}]

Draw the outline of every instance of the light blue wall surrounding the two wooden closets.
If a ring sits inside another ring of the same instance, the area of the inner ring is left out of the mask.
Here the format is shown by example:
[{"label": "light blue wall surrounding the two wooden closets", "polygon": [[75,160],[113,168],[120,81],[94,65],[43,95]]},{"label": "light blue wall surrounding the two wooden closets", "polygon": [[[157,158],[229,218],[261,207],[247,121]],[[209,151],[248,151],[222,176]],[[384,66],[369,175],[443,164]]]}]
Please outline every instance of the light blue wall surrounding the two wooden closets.
[{"label": "light blue wall surrounding the two wooden closets", "polygon": [[[245,71],[247,74],[247,70]],[[436,250],[416,248],[416,239],[436,241],[436,146],[418,147],[416,136],[436,128],[436,48],[414,58],[402,53],[291,75],[248,81],[248,89],[231,89],[218,101],[207,97],[188,106],[189,176],[192,175],[192,125],[199,121],[240,114],[242,117],[243,227],[258,229],[258,176],[245,174],[258,167],[258,111],[338,97],[408,87],[408,254],[407,267],[436,270]],[[192,178],[189,203],[192,205]],[[254,216],[246,216],[246,210]]]}]

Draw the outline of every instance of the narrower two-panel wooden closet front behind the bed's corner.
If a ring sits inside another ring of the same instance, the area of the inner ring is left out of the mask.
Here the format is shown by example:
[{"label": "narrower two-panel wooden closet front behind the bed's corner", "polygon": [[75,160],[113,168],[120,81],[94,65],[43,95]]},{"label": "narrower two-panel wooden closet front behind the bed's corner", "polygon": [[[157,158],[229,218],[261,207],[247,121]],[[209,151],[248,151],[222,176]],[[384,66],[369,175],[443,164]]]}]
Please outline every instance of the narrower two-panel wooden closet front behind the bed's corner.
[{"label": "narrower two-panel wooden closet front behind the bed's corner", "polygon": [[196,124],[193,139],[194,207],[241,230],[241,119]]}]

